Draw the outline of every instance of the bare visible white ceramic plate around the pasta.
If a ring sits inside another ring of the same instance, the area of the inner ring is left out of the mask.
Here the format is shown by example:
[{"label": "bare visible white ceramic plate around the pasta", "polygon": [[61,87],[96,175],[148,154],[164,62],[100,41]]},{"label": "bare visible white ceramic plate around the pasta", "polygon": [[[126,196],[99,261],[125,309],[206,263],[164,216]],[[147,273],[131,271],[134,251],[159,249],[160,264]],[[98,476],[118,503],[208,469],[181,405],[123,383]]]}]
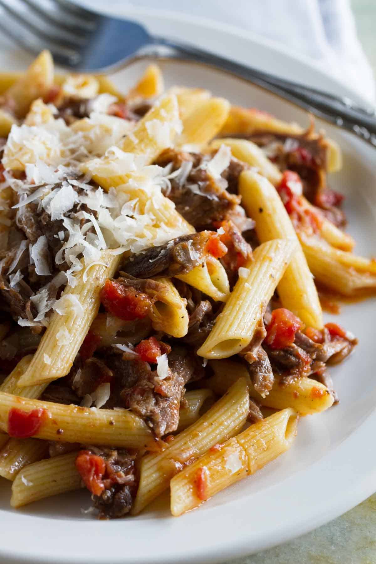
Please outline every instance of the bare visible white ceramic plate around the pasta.
[{"label": "bare visible white ceramic plate around the pasta", "polygon": [[[283,72],[337,92],[347,92],[317,68],[276,49],[270,42],[247,38],[244,32],[156,12],[140,19],[156,33],[200,37],[200,44],[245,63]],[[0,68],[20,66],[24,59],[2,51]],[[10,63],[12,61],[12,63]],[[11,66],[12,65],[12,66]],[[232,102],[266,109],[302,124],[304,112],[246,82],[192,64],[163,63],[167,85],[203,86]],[[143,67],[134,65],[116,81],[126,87]],[[282,69],[282,70],[281,70]],[[353,93],[352,93],[353,95]],[[359,98],[359,96],[358,96]],[[319,126],[324,123],[318,120]],[[325,125],[343,148],[344,168],[330,179],[347,196],[349,231],[361,253],[376,254],[374,149],[343,131]],[[0,482],[3,562],[56,564],[147,564],[217,562],[282,543],[312,530],[352,508],[376,490],[376,385],[374,374],[375,299],[343,307],[333,317],[359,337],[360,345],[346,363],[332,372],[340,404],[299,423],[289,452],[267,468],[207,501],[180,518],[168,506],[148,509],[138,518],[95,521],[81,514],[90,505],[87,492],[43,500],[23,510],[8,503],[9,483]],[[166,501],[166,499],[165,499]]]}]

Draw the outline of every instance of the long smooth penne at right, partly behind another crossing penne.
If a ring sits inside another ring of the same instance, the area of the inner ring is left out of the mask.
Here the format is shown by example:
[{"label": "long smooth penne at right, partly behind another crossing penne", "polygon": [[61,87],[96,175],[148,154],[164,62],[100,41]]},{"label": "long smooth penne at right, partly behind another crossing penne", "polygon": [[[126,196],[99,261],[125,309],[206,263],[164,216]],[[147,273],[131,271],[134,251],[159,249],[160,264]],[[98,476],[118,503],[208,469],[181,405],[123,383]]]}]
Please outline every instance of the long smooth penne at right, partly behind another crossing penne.
[{"label": "long smooth penne at right, partly behind another crossing penne", "polygon": [[321,329],[322,310],[315,283],[298,243],[293,224],[275,187],[267,178],[253,171],[240,175],[239,191],[247,214],[256,222],[259,240],[289,237],[297,241],[297,249],[278,284],[282,305],[294,312],[308,327]]}]

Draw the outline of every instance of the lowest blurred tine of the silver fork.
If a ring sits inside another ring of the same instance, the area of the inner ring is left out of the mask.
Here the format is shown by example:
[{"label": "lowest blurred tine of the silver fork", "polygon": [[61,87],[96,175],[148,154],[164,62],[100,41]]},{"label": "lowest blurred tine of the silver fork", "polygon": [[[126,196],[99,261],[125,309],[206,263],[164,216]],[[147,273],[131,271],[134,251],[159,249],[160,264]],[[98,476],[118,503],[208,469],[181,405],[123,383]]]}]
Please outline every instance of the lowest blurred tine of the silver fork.
[{"label": "lowest blurred tine of the silver fork", "polygon": [[78,64],[79,60],[81,60],[79,54],[73,49],[48,43],[46,45],[46,43],[41,42],[40,39],[33,34],[25,34],[24,29],[21,28],[20,25],[15,26],[14,21],[8,20],[7,17],[2,17],[2,19],[0,19],[0,30],[10,39],[15,41],[15,43],[24,47],[26,51],[32,52],[36,55],[43,49],[49,49],[55,62],[61,65],[74,67]]}]

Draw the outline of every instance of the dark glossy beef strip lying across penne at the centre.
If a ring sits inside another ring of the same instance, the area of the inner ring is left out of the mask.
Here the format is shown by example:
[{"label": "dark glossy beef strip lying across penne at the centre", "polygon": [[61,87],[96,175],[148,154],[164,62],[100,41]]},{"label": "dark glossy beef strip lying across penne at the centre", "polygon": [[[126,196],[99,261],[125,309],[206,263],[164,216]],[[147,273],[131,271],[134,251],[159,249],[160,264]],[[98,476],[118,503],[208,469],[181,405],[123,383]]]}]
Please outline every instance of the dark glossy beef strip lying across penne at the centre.
[{"label": "dark glossy beef strip lying across penne at the centre", "polygon": [[214,235],[213,231],[182,235],[165,245],[151,247],[145,253],[131,257],[122,266],[122,270],[140,278],[187,274],[204,262],[207,255],[206,244]]}]

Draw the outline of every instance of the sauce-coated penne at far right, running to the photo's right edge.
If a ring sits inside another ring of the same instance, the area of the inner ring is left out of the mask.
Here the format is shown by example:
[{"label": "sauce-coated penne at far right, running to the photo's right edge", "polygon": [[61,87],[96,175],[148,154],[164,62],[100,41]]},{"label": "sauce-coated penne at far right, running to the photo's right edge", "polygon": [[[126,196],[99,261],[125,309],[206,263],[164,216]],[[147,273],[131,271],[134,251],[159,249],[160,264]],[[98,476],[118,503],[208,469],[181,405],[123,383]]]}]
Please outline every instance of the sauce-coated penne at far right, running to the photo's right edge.
[{"label": "sauce-coated penne at far right, running to the photo's right edge", "polygon": [[373,272],[357,271],[355,267],[341,263],[332,254],[333,250],[339,252],[338,249],[328,249],[316,237],[299,233],[299,239],[313,276],[327,288],[343,296],[357,296],[376,290],[376,274]]}]

